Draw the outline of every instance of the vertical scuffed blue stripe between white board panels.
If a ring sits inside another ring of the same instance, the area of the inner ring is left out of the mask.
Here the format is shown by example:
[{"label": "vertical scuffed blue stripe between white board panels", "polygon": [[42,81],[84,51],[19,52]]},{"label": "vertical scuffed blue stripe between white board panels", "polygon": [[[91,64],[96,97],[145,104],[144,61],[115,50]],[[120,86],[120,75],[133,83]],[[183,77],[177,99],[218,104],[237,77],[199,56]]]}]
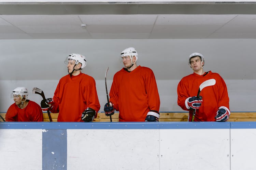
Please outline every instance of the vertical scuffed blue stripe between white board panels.
[{"label": "vertical scuffed blue stripe between white board panels", "polygon": [[67,170],[67,130],[45,129],[42,137],[42,170]]}]

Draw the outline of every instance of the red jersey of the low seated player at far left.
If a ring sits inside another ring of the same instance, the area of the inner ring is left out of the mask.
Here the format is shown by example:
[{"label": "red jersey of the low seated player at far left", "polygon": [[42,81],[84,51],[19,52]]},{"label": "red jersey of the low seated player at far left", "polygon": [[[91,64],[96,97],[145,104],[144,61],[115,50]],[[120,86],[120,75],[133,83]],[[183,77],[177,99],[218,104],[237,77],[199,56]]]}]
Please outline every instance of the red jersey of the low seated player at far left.
[{"label": "red jersey of the low seated player at far left", "polygon": [[31,101],[27,100],[28,104],[25,108],[19,108],[13,103],[5,114],[6,122],[43,122],[43,112],[41,107]]}]

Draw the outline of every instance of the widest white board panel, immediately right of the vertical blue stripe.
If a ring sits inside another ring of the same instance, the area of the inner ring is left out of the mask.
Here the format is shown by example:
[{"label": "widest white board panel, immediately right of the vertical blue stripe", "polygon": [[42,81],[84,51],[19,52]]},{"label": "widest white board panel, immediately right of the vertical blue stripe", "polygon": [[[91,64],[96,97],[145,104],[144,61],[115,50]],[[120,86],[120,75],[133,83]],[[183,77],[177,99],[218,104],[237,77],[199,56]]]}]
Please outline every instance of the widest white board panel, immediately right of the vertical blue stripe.
[{"label": "widest white board panel, immediately right of the vertical blue stripe", "polygon": [[156,170],[158,139],[158,129],[67,130],[67,168]]}]

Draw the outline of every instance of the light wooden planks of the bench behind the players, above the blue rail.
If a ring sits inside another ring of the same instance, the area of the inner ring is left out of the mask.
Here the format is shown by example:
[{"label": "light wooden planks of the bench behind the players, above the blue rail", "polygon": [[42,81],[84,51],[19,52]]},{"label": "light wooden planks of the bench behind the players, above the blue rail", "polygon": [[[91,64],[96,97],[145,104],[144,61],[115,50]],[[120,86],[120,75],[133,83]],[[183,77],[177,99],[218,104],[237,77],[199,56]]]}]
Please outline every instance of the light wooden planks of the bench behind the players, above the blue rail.
[{"label": "light wooden planks of the bench behind the players, above the blue rail", "polygon": [[[5,119],[6,113],[0,113],[0,115]],[[49,122],[48,114],[43,113],[44,121]],[[58,113],[51,113],[52,120],[57,122]],[[119,113],[112,115],[112,122],[118,122]],[[188,119],[188,112],[160,112],[160,122],[186,122]],[[3,121],[0,119],[0,121]],[[231,112],[229,117],[230,122],[237,121],[256,121],[256,112]],[[110,117],[105,116],[105,113],[98,113],[97,117],[94,119],[94,122],[110,122]]]}]

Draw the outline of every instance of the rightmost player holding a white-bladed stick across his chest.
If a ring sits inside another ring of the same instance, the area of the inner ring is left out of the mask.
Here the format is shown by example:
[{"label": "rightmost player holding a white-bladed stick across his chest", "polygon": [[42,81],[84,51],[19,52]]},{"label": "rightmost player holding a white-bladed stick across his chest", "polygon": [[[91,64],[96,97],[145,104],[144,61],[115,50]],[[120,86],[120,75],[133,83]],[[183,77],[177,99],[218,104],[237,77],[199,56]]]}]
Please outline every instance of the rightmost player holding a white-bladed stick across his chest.
[{"label": "rightmost player holding a white-bladed stick across his chest", "polygon": [[[200,53],[192,53],[188,64],[194,73],[181,79],[177,87],[178,105],[189,111],[189,121],[194,109],[194,121],[227,121],[230,116],[229,97],[222,77],[211,71],[204,72],[204,57]],[[209,79],[215,79],[216,84],[205,87],[197,98],[200,84]]]}]

